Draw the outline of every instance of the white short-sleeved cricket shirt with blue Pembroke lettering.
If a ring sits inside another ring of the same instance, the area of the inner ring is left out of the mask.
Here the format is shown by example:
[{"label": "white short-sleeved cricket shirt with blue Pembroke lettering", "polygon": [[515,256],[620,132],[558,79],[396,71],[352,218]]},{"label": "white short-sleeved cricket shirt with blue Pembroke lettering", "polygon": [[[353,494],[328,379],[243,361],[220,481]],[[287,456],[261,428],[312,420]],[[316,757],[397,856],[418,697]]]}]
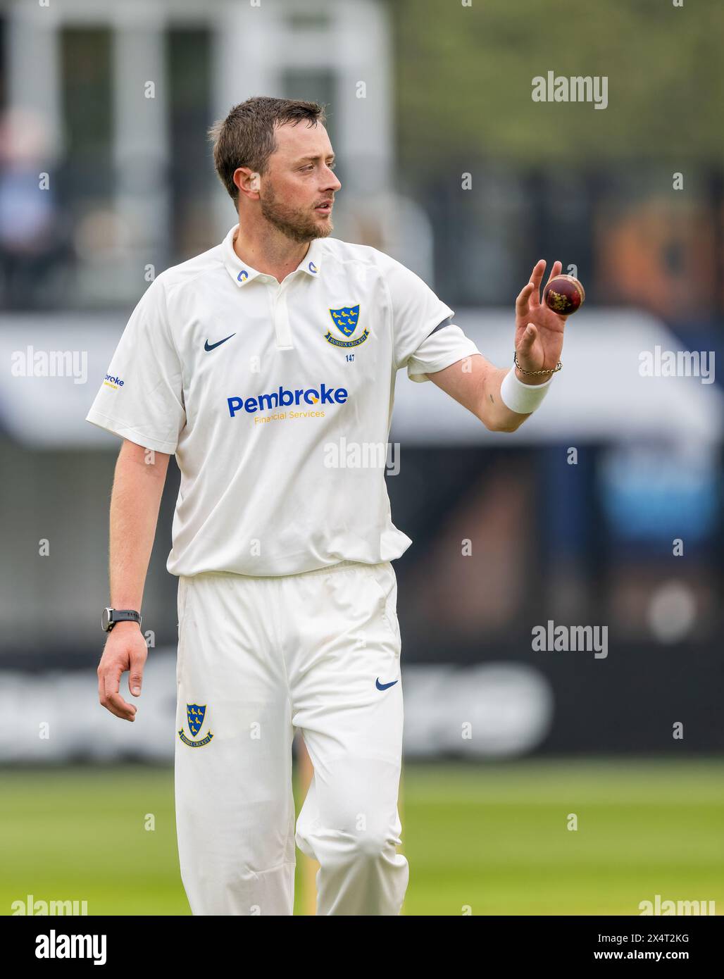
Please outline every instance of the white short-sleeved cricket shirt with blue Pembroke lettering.
[{"label": "white short-sleeved cricket shirt with blue Pembroke lettering", "polygon": [[318,238],[280,284],[236,255],[237,230],[149,286],[86,420],[175,453],[172,575],[393,560],[412,543],[385,487],[396,372],[427,381],[479,351],[383,252]]}]

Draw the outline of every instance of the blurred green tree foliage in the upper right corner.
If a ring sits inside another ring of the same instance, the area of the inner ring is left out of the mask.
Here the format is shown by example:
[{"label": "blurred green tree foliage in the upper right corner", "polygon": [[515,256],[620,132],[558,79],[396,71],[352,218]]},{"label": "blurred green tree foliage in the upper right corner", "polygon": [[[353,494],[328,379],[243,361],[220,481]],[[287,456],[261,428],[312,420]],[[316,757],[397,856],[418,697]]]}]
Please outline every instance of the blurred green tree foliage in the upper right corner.
[{"label": "blurred green tree foliage in the upper right corner", "polygon": [[[642,158],[721,165],[722,0],[388,0],[398,162],[452,153],[529,167]],[[532,79],[607,75],[608,108],[536,103]]]}]

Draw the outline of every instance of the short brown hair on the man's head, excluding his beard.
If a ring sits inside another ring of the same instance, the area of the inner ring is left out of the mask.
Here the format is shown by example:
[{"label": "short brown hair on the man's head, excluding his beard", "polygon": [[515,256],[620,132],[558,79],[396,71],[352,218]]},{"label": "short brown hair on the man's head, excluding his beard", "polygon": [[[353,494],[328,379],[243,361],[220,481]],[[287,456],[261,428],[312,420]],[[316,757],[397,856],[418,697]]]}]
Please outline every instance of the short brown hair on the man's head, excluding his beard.
[{"label": "short brown hair on the man's head, excluding his beard", "polygon": [[327,121],[323,106],[297,99],[272,99],[257,95],[234,106],[229,115],[208,130],[213,141],[213,164],[219,180],[239,210],[239,188],[234,172],[249,166],[255,173],[264,174],[269,157],[277,149],[274,126],[291,122],[296,125],[306,119],[309,125]]}]

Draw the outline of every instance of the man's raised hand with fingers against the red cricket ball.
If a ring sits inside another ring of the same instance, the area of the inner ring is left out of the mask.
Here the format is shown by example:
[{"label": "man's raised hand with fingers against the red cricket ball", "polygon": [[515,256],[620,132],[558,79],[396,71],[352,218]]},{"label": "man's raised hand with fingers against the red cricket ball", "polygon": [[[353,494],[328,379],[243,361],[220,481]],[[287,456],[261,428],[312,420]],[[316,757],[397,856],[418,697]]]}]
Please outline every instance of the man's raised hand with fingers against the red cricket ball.
[{"label": "man's raised hand with fingers against the red cricket ball", "polygon": [[[540,301],[545,269],[545,259],[541,258],[533,267],[530,282],[516,300],[516,351],[518,362],[525,370],[552,370],[560,360],[564,346],[566,316],[560,316]],[[562,269],[563,264],[555,261],[548,281],[560,275]],[[552,375],[531,376],[516,368],[516,377],[523,384],[533,385],[544,384]]]}]

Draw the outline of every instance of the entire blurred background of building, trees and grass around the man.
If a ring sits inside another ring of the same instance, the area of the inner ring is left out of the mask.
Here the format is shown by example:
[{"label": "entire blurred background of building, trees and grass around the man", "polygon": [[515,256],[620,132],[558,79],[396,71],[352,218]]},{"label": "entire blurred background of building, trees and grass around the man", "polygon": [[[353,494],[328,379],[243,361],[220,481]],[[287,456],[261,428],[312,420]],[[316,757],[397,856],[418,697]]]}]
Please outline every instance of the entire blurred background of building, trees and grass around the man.
[{"label": "entire blurred background of building, trees and grass around the man", "polygon": [[[130,725],[95,676],[120,443],[84,417],[149,281],[237,222],[205,132],[253,95],[326,104],[334,236],[418,272],[498,366],[539,257],[586,288],[514,435],[398,379],[404,913],[722,912],[723,35],[719,0],[0,6],[0,913],[189,913],[178,471]],[[533,101],[549,71],[605,76],[606,107]],[[606,627],[607,655],[534,649],[549,622]]]}]

